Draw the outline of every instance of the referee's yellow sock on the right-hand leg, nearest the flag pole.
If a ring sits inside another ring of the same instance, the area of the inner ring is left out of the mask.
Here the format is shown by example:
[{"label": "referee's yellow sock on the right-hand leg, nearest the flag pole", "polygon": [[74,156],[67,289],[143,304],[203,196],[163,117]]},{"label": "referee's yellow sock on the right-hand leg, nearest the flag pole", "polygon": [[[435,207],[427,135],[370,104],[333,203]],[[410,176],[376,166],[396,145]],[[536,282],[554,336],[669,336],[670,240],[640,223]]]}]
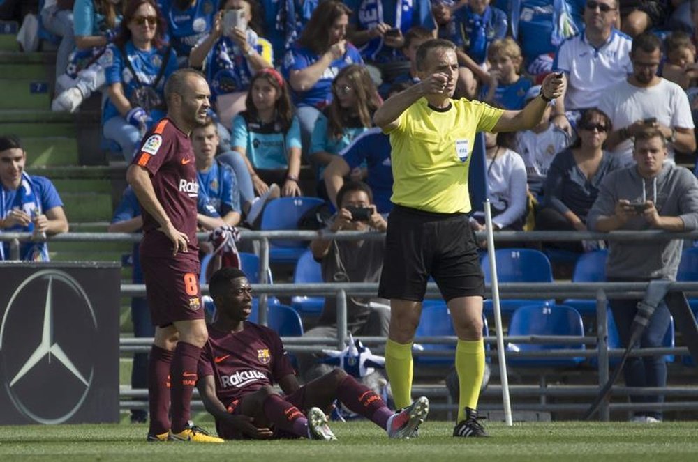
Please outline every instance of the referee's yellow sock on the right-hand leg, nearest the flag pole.
[{"label": "referee's yellow sock on the right-hand leg, nearest the flag pole", "polygon": [[[387,348],[385,350],[387,351]],[[385,362],[387,365],[387,357]],[[461,422],[466,418],[463,408],[477,409],[477,399],[480,397],[480,386],[484,375],[484,341],[458,341],[456,373],[459,383],[458,422]]]}]

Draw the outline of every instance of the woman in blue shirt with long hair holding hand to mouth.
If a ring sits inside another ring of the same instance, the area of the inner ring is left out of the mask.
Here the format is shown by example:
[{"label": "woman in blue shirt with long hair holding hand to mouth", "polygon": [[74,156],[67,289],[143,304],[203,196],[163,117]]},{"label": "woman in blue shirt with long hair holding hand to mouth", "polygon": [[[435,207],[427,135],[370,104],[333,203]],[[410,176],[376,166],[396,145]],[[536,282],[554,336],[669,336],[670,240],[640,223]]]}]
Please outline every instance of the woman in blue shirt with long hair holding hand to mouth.
[{"label": "woman in blue shirt with long hair holding hand to mouth", "polygon": [[283,75],[293,90],[306,153],[315,121],[332,101],[332,81],[337,72],[350,64],[364,62],[359,50],[346,40],[351,14],[340,1],[323,1],[283,59]]}]

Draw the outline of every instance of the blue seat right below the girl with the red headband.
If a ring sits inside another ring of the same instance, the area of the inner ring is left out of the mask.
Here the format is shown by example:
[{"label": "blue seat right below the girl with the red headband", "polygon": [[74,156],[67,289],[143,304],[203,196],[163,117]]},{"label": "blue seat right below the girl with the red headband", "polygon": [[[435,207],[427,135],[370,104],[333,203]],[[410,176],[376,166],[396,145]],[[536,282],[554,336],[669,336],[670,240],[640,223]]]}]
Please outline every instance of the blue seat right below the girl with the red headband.
[{"label": "blue seat right below the girl with the red headband", "polygon": [[[311,208],[325,203],[317,197],[280,197],[269,201],[262,212],[262,231],[298,229],[298,220]],[[308,248],[302,240],[272,240],[269,242],[269,261],[296,263]]]}]

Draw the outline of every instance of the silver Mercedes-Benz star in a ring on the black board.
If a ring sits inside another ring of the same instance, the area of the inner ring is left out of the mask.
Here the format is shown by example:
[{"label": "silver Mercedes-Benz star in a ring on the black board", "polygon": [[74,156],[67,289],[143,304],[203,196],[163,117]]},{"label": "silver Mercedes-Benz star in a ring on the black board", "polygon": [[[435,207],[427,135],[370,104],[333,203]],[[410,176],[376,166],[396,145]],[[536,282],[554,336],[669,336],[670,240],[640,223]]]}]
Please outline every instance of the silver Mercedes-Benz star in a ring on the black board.
[{"label": "silver Mercedes-Benz star in a ring on the black board", "polygon": [[41,424],[73,417],[90,390],[94,309],[66,272],[40,270],[17,287],[0,325],[0,355],[10,400]]}]

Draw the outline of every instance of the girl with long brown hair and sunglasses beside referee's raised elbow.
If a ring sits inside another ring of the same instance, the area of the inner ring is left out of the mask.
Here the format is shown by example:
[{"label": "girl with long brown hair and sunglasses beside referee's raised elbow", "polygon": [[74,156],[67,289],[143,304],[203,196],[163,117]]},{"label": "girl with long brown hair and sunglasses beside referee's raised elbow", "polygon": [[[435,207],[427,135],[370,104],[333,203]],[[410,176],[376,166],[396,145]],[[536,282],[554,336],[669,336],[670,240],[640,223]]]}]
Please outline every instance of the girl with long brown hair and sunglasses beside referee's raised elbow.
[{"label": "girl with long brown hair and sunglasses beside referee's raised elbow", "polygon": [[[318,167],[318,179],[336,155],[352,139],[373,125],[373,113],[381,100],[369,71],[352,64],[339,71],[332,84],[332,102],[320,114],[311,138],[311,160]],[[325,183],[318,182],[318,196],[327,199]]]}]

